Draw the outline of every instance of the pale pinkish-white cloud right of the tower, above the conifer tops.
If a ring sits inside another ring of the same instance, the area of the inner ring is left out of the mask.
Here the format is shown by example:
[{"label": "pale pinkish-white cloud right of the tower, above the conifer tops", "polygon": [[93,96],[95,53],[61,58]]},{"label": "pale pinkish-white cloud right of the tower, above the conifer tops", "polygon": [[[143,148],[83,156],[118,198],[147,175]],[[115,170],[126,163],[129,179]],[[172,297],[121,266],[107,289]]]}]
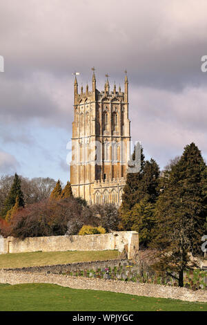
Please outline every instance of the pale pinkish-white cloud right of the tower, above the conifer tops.
[{"label": "pale pinkish-white cloud right of the tower, above the conifer tops", "polygon": [[[207,152],[207,87],[180,93],[149,88],[131,91],[132,138],[164,166],[190,142]],[[136,121],[136,123],[134,122]]]}]

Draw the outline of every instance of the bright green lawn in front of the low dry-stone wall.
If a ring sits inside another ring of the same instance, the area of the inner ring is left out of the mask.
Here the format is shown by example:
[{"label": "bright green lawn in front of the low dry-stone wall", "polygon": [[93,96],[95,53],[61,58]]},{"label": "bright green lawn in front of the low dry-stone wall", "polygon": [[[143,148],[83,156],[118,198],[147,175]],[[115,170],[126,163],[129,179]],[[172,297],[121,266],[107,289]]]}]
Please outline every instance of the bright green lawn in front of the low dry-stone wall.
[{"label": "bright green lawn in front of the low dry-stone wall", "polygon": [[124,293],[80,290],[56,284],[0,285],[0,310],[4,311],[206,311],[206,303],[138,297]]}]

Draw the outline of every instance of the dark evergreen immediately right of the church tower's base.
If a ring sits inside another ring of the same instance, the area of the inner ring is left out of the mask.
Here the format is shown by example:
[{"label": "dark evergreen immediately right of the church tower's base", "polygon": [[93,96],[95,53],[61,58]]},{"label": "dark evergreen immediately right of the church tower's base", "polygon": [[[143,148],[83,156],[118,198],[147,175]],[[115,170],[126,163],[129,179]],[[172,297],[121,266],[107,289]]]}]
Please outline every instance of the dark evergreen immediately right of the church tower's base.
[{"label": "dark evergreen immediately right of the church tower's base", "polygon": [[[144,157],[144,155],[142,154]],[[124,187],[123,203],[119,214],[121,217],[121,230],[136,230],[141,232],[140,239],[143,245],[148,245],[153,234],[154,205],[159,192],[159,166],[151,159],[142,164],[137,174],[128,174],[126,187]],[[135,175],[135,176],[133,176]],[[133,183],[130,183],[130,179]],[[125,196],[125,191],[127,194]],[[133,191],[133,192],[132,192]],[[145,228],[145,229],[144,229]],[[148,240],[146,239],[148,236]]]}]

